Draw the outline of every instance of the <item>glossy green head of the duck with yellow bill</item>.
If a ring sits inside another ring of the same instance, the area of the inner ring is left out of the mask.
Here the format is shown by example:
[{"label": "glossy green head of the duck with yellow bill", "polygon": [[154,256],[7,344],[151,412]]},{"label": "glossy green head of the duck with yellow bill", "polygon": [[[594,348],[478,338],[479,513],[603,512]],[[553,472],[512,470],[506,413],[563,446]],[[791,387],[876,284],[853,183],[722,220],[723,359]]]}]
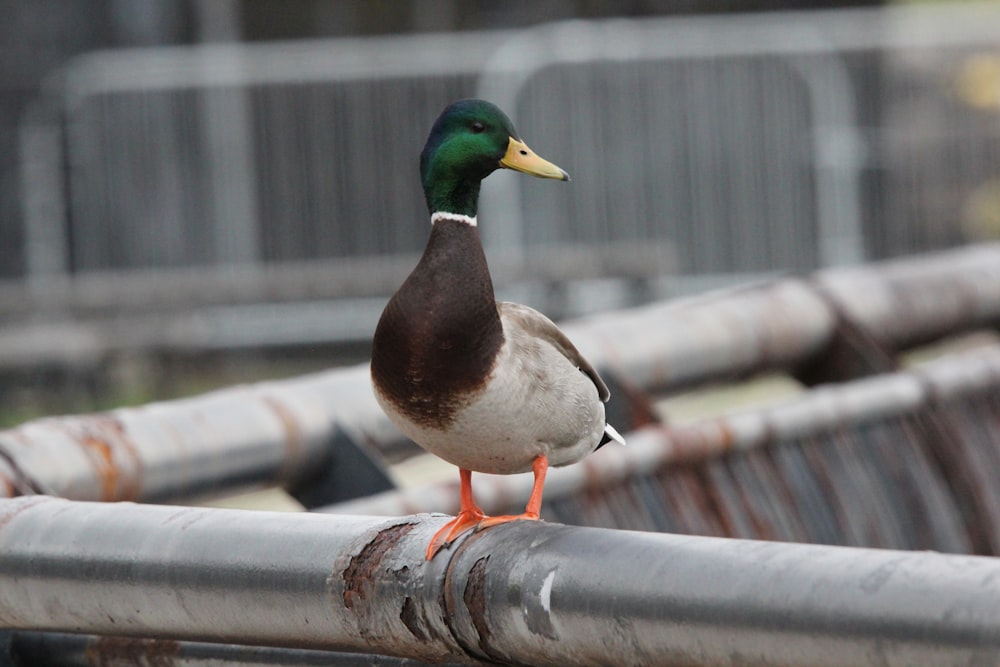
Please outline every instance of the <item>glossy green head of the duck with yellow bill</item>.
[{"label": "glossy green head of the duck with yellow bill", "polygon": [[479,184],[497,169],[569,180],[569,174],[535,155],[507,114],[483,100],[448,106],[431,128],[420,154],[420,177],[431,213],[476,215]]}]

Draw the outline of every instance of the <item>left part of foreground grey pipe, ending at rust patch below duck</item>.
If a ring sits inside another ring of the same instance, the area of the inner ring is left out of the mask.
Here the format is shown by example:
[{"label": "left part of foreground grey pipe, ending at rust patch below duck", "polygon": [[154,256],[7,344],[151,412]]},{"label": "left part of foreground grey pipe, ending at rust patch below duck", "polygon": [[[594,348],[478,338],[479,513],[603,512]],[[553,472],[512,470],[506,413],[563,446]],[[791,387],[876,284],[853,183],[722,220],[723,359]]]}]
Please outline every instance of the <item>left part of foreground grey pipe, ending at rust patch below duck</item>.
[{"label": "left part of foreground grey pipe, ending at rust patch below duck", "polygon": [[440,589],[440,523],[2,500],[0,627],[465,659],[403,620]]}]

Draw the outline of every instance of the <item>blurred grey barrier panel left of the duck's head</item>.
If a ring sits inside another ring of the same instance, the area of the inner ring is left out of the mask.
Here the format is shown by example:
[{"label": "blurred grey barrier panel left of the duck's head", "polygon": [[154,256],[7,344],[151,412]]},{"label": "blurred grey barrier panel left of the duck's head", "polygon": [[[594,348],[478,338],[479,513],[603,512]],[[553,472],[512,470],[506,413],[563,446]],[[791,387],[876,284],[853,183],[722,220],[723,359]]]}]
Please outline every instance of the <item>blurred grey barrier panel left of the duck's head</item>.
[{"label": "blurred grey barrier panel left of the duck's head", "polygon": [[[81,57],[23,133],[29,273],[417,251],[427,130],[506,36]],[[52,191],[68,193],[66,218]],[[66,255],[52,237],[72,239]]]}]

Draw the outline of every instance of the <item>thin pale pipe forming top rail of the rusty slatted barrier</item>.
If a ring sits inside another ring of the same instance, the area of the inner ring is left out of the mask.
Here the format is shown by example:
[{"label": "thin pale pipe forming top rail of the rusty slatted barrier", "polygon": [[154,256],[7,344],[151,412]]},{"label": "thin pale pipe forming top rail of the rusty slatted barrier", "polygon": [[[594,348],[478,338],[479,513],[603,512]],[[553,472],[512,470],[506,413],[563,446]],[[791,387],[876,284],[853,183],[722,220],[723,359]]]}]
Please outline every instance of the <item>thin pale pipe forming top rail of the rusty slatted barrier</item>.
[{"label": "thin pale pipe forming top rail of the rusty slatted barrier", "polygon": [[[930,361],[910,371],[828,385],[765,408],[754,408],[692,424],[647,426],[627,434],[627,447],[604,447],[583,461],[549,471],[548,499],[652,474],[670,463],[707,459],[799,437],[816,437],[845,424],[859,426],[913,414],[932,400],[1000,393],[1000,344]],[[477,474],[476,499],[487,513],[509,511],[531,492],[530,473]],[[397,516],[450,512],[459,508],[457,479],[386,491],[322,508],[334,514]]]}]

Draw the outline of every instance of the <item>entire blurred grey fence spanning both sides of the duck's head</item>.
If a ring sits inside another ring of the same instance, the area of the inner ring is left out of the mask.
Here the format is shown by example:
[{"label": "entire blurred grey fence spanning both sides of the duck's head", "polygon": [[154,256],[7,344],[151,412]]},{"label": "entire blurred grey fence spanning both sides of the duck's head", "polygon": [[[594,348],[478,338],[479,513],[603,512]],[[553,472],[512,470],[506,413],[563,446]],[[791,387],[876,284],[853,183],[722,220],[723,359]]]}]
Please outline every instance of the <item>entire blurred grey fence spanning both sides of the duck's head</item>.
[{"label": "entire blurred grey fence spanning both sides of the duck's head", "polygon": [[416,156],[470,95],[574,176],[494,176],[493,250],[655,242],[676,258],[656,270],[732,273],[954,245],[998,209],[997,19],[949,6],[96,53],[22,128],[29,277],[416,252]]}]

